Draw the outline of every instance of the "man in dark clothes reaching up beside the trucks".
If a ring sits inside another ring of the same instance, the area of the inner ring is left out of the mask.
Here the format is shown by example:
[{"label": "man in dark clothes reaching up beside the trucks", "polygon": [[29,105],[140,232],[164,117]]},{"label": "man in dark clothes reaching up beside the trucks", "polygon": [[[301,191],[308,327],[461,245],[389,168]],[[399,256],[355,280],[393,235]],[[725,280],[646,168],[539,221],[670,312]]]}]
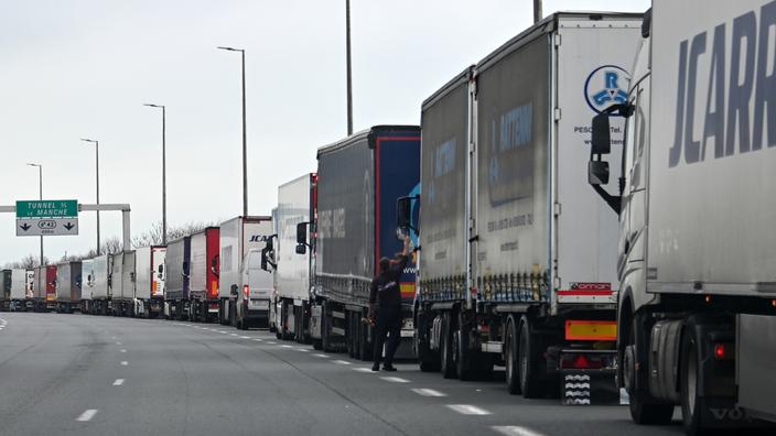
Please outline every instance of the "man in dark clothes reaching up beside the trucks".
[{"label": "man in dark clothes reaching up beside the trucks", "polygon": [[369,290],[369,312],[375,313],[377,305],[377,331],[375,333],[375,364],[373,371],[380,370],[382,345],[386,344],[385,371],[396,371],[394,355],[401,340],[401,291],[399,281],[409,261],[410,237],[405,237],[405,250],[395,259],[382,258],[379,262],[379,274],[371,281]]}]

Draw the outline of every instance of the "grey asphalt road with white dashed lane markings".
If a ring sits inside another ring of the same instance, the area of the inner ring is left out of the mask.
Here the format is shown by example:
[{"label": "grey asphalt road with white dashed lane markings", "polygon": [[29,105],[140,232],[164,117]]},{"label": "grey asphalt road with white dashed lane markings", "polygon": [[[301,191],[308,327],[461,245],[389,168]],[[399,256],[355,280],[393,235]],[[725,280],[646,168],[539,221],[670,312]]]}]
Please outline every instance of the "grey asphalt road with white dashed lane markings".
[{"label": "grey asphalt road with white dashed lane markings", "polygon": [[0,327],[0,435],[682,434],[636,426],[624,406],[511,396],[498,380],[371,373],[266,330],[25,313]]}]

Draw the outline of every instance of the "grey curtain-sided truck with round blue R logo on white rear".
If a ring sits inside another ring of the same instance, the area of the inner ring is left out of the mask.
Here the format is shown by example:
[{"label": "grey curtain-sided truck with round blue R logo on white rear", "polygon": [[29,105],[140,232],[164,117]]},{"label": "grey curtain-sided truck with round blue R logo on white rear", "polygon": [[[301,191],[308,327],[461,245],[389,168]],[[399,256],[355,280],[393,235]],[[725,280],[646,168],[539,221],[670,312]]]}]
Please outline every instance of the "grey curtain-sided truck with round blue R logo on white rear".
[{"label": "grey curtain-sided truck with round blue R logo on white rear", "polygon": [[[615,401],[617,221],[584,187],[590,117],[625,97],[640,14],[554,13],[422,105],[421,370]],[[614,127],[622,138],[622,126]]]}]

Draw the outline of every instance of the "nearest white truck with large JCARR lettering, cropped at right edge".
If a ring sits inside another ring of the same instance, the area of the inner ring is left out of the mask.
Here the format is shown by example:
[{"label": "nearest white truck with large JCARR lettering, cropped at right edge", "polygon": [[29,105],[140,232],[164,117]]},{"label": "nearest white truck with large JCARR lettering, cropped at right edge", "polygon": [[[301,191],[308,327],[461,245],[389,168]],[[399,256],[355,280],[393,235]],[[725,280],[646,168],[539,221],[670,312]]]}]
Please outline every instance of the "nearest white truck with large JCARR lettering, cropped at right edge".
[{"label": "nearest white truck with large JCARR lettering, cropped at right edge", "polygon": [[619,217],[618,380],[636,423],[668,423],[675,405],[688,435],[776,417],[775,33],[776,1],[654,0],[627,101],[593,120],[590,183]]}]

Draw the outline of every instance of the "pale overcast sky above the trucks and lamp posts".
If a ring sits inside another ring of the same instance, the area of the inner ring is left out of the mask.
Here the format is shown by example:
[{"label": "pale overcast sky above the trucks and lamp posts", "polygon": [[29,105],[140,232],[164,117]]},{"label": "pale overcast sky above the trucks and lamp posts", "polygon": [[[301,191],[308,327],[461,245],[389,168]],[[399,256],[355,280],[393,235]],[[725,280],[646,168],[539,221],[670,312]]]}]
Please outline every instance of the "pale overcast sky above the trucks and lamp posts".
[{"label": "pale overcast sky above the trucks and lamp posts", "polygon": [[[530,0],[352,0],[354,128],[420,122],[421,101],[531,23]],[[545,0],[558,10],[643,12],[648,0]],[[132,233],[161,220],[161,113],[168,107],[168,221],[241,211],[240,58],[246,50],[249,211],[315,168],[346,134],[344,0],[1,0],[0,205],[37,198],[129,203]],[[0,265],[39,253],[0,214]],[[101,216],[119,237],[118,212]],[[95,246],[50,237],[46,257]]]}]

